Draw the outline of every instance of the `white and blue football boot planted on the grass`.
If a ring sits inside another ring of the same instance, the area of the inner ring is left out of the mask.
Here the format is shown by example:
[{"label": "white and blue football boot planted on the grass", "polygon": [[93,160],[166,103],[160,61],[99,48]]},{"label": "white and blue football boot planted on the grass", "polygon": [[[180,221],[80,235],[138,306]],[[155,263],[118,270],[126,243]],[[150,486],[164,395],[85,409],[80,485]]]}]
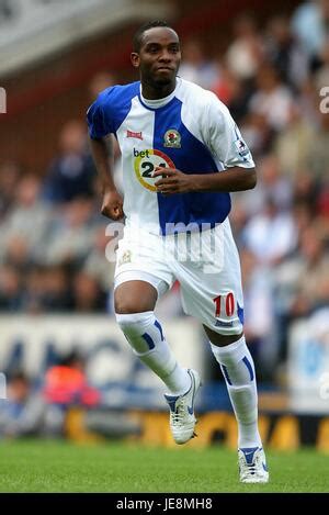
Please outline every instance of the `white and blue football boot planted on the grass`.
[{"label": "white and blue football boot planted on the grass", "polygon": [[241,483],[268,483],[269,470],[262,447],[238,449]]}]

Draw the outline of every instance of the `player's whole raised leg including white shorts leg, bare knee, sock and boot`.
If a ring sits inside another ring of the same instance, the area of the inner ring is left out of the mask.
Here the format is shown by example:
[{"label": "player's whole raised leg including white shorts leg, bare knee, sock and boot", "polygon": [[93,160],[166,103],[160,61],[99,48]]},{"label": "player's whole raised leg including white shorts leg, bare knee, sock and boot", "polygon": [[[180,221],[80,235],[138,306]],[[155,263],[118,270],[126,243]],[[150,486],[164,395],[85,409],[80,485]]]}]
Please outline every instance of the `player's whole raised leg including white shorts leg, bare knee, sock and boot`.
[{"label": "player's whole raised leg including white shorts leg, bare knee, sock and boot", "polygon": [[175,280],[168,251],[161,237],[140,227],[125,229],[116,253],[115,311],[135,354],[167,385],[172,435],[177,444],[184,444],[194,433],[195,417],[190,411],[200,378],[177,362],[154,313],[157,299]]}]

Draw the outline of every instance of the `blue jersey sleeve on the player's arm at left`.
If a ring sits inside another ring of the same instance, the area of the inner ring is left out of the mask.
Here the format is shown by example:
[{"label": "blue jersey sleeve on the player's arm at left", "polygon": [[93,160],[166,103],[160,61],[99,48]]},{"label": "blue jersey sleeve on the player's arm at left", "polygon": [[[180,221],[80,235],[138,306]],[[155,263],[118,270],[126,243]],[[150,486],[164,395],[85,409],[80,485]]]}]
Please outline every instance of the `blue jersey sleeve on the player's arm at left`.
[{"label": "blue jersey sleeve on the player's arm at left", "polygon": [[100,93],[87,111],[87,124],[92,139],[100,139],[114,132],[113,124],[109,120],[109,115],[105,115],[104,109],[109,93],[111,93],[111,88]]}]

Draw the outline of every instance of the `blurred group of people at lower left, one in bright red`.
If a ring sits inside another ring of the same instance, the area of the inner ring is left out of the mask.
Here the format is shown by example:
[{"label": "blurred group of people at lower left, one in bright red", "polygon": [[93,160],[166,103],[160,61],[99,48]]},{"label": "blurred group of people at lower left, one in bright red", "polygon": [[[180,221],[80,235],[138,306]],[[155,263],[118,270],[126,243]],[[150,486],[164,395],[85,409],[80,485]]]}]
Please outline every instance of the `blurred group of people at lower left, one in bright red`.
[{"label": "blurred group of people at lower left, one in bright red", "polygon": [[5,401],[0,399],[0,440],[66,436],[94,441],[98,436],[123,437],[140,432],[129,415],[106,408],[102,392],[89,383],[86,359],[78,349],[61,355],[42,382],[13,370],[8,376],[7,393]]}]

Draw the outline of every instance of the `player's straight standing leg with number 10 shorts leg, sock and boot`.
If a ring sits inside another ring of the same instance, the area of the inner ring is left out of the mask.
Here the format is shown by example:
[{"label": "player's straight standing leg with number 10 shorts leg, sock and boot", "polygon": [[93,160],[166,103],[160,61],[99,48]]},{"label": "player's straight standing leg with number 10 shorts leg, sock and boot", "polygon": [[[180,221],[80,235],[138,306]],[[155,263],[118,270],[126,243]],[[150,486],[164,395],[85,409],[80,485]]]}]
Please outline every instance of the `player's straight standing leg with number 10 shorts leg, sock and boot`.
[{"label": "player's straight standing leg with number 10 shorts leg, sock and boot", "polygon": [[[181,282],[185,312],[203,323],[212,351],[224,373],[238,423],[238,447],[247,449],[248,459],[253,464],[254,460],[260,461],[263,451],[258,430],[254,366],[242,333],[240,265],[228,221],[217,231],[218,246],[224,249],[222,257],[217,257],[212,267],[198,267],[195,271],[190,267],[185,270],[189,280],[184,280],[184,271],[178,279]],[[211,256],[204,256],[204,259],[207,257]],[[240,454],[239,450],[239,457]],[[263,470],[263,463],[261,467],[258,474],[249,467],[250,473],[246,482],[266,481],[268,473]],[[243,473],[240,478],[245,481]]]}]

